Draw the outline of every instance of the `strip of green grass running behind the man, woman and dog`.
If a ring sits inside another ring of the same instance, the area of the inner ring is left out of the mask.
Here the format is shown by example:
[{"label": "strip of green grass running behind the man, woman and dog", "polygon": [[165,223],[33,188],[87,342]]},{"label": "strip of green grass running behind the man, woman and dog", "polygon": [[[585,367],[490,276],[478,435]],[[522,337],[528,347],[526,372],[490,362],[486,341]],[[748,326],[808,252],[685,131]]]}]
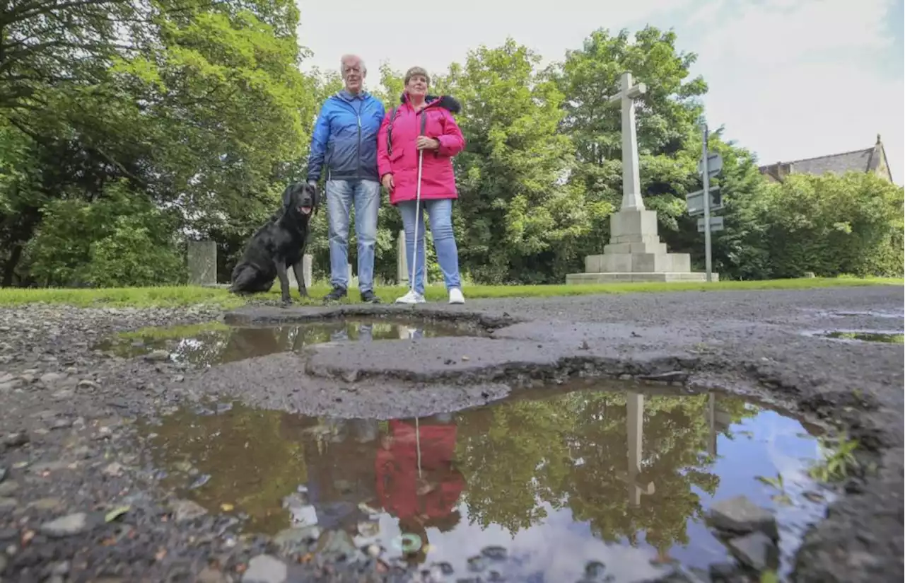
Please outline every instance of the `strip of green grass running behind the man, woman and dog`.
[{"label": "strip of green grass running behind the man, woman and dog", "polygon": [[[905,285],[905,278],[803,278],[795,280],[769,280],[763,282],[675,282],[675,283],[607,283],[589,285],[466,285],[462,292],[466,299],[479,298],[546,298],[555,296],[588,295],[595,293],[638,292],[721,292],[731,290],[810,290],[828,287],[853,287],[873,285]],[[326,284],[311,287],[311,304],[319,305],[320,297],[329,292]],[[380,286],[377,295],[385,302],[393,301],[405,292],[405,288]],[[424,294],[428,301],[444,301],[443,285],[429,286]],[[298,301],[295,289],[292,297]],[[279,300],[280,287],[274,285],[271,292],[257,296],[259,299]],[[357,290],[352,290],[347,300],[358,301]],[[236,308],[245,301],[222,289],[195,286],[110,288],[110,289],[0,289],[0,306],[46,302],[73,306],[110,307],[169,307],[207,304],[222,308]]]}]

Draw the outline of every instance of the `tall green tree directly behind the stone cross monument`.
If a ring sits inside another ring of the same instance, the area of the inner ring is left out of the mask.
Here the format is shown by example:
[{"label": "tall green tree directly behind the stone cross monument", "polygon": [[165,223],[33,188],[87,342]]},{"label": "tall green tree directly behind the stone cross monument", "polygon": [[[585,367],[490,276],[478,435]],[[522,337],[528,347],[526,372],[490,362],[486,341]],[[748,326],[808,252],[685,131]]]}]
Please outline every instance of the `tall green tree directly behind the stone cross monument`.
[{"label": "tall green tree directly behind the stone cross monument", "polygon": [[[703,110],[698,98],[707,85],[700,77],[689,79],[696,59],[678,51],[672,31],[647,26],[632,39],[626,30],[611,35],[598,29],[582,49],[568,52],[565,62],[549,70],[566,96],[559,131],[576,147],[578,165],[570,183],[583,185],[595,203],[615,208],[622,198],[622,124],[618,106],[608,99],[619,91],[623,72],[646,84],[647,92],[635,101],[642,195],[657,211],[661,235],[673,248],[681,243],[670,235],[679,229],[684,196],[697,187],[700,147],[694,149],[694,137]],[[601,253],[608,232],[607,222],[595,224],[584,254]]]}]

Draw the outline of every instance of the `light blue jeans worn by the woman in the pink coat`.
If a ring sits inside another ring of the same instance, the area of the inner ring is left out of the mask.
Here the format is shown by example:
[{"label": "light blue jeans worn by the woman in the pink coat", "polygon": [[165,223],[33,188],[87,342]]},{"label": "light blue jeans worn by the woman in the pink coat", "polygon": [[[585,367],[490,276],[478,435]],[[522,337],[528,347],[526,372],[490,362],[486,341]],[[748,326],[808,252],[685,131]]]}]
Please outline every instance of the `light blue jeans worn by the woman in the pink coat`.
[{"label": "light blue jeans worn by the woman in the pink coat", "polygon": [[[446,289],[460,288],[459,250],[456,248],[455,235],[452,234],[452,198],[440,198],[421,201],[421,216],[418,217],[418,236],[414,236],[414,200],[399,203],[399,214],[405,228],[405,262],[408,264],[408,276],[412,277],[412,253],[414,244],[418,245],[418,261],[414,265],[414,291],[424,293],[424,211],[430,216],[433,248],[437,252],[437,263],[443,272]],[[411,282],[410,282],[411,284]]]}]

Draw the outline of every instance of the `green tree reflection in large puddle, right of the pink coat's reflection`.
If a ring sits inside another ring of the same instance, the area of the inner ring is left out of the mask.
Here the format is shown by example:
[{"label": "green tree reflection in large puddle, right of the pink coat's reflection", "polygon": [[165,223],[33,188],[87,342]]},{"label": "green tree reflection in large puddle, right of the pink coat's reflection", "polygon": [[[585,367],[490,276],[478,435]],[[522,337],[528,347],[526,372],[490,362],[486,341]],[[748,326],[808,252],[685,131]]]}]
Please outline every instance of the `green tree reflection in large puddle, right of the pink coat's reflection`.
[{"label": "green tree reflection in large puddle, right of the pink coat's reflection", "polygon": [[[692,487],[712,493],[719,483],[708,472],[708,399],[644,399],[634,481],[655,489],[637,506],[628,495],[624,394],[573,392],[462,414],[457,453],[471,520],[514,534],[542,519],[546,502],[568,507],[603,540],[635,540],[643,531],[657,548],[687,542],[686,521],[701,514]],[[719,399],[719,408],[734,421],[754,415],[738,399]]]}]

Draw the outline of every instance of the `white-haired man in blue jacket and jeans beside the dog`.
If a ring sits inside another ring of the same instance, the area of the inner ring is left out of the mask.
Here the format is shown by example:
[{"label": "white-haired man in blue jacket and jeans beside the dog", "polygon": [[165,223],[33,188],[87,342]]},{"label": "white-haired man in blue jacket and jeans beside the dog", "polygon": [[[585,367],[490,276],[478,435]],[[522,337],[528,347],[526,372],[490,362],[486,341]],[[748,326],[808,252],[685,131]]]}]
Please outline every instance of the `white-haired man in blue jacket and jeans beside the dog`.
[{"label": "white-haired man in blue jacket and jeans beside the dog", "polygon": [[358,290],[361,300],[379,303],[374,294],[374,248],[380,182],[377,176],[377,131],[386,110],[362,85],[365,62],[357,55],[343,55],[339,71],[345,89],[331,95],[320,108],[311,136],[308,181],[317,184],[327,167],[330,283],[333,291],[324,303],[346,297],[348,289],[348,216],[355,205],[358,238]]}]

